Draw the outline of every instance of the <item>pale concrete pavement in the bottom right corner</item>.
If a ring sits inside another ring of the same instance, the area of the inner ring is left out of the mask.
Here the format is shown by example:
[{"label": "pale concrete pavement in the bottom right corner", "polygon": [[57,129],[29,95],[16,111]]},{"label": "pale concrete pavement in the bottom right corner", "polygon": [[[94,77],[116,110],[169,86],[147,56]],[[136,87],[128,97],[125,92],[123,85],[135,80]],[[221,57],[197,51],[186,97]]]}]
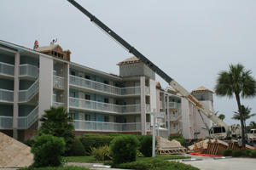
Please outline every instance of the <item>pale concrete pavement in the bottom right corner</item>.
[{"label": "pale concrete pavement in the bottom right corner", "polygon": [[213,157],[207,156],[191,156],[194,159],[202,159],[202,161],[182,161],[185,164],[190,164],[194,167],[198,167],[201,170],[251,170],[256,169],[256,159],[254,158],[228,158],[228,159],[213,159]]}]

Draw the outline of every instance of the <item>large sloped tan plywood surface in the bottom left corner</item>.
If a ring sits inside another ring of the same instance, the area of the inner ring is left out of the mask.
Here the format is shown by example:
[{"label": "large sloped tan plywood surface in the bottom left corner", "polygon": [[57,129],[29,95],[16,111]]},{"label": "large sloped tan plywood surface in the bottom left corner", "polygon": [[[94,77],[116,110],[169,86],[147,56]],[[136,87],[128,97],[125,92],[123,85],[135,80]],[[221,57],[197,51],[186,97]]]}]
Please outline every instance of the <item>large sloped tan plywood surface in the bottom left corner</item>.
[{"label": "large sloped tan plywood surface in the bottom left corner", "polygon": [[0,133],[0,168],[29,167],[33,163],[31,148]]}]

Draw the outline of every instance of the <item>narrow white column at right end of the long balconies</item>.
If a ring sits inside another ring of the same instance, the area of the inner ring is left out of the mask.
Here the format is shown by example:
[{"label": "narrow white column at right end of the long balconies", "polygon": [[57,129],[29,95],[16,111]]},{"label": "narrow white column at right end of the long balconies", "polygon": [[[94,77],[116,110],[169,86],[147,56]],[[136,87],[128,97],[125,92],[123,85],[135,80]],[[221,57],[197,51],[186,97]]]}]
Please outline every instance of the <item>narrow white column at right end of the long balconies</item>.
[{"label": "narrow white column at right end of the long balconies", "polygon": [[146,94],[145,94],[145,77],[140,77],[141,84],[141,122],[142,122],[142,135],[147,134],[146,131]]}]

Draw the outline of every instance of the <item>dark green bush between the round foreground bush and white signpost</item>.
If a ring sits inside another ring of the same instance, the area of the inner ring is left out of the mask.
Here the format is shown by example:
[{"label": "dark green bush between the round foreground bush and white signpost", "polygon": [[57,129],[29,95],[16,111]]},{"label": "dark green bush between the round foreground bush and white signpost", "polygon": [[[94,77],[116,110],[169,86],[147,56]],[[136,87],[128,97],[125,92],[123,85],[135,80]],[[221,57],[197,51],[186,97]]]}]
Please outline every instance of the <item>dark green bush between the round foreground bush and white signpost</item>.
[{"label": "dark green bush between the round foreground bush and white signpost", "polygon": [[[139,151],[143,154],[143,156],[151,157],[152,156],[153,136],[152,135],[137,136],[137,139],[140,142]],[[155,140],[155,145],[157,145],[157,140]]]}]

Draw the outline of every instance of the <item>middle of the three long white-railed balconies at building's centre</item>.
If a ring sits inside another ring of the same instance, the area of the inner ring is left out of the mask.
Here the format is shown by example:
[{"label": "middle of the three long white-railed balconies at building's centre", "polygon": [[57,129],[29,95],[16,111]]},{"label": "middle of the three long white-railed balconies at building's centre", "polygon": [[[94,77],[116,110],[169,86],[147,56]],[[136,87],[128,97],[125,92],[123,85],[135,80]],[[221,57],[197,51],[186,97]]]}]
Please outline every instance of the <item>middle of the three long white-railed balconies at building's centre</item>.
[{"label": "middle of the three long white-railed balconies at building's centre", "polygon": [[[89,111],[101,111],[110,113],[140,113],[141,105],[113,105],[96,102],[87,99],[69,98],[69,106],[74,109]],[[146,105],[146,112],[150,111],[150,105]]]}]

